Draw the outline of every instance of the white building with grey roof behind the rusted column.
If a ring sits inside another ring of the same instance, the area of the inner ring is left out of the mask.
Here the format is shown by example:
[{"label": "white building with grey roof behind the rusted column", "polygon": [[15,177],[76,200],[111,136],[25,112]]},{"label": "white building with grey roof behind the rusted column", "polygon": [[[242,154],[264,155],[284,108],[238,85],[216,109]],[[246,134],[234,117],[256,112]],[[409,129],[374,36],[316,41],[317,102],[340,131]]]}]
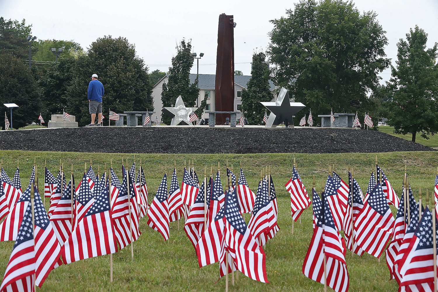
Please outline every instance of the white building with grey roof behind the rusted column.
[{"label": "white building with grey roof behind the rusted column", "polygon": [[[194,82],[195,78],[196,78],[196,74],[190,74],[191,83]],[[242,104],[240,96],[242,90],[244,88],[247,89],[247,83],[250,80],[250,78],[251,76],[234,75],[234,111],[240,110],[240,106]],[[158,81],[157,84],[155,84],[154,88],[152,89],[152,96],[154,98],[154,108],[159,120],[161,120],[161,114],[162,114],[161,109],[163,107],[161,102],[162,84],[163,82],[167,83],[167,79],[169,79],[167,75],[162,77],[162,79]],[[199,74],[198,88],[200,89],[200,91],[197,100],[197,105],[201,104],[202,99],[204,99],[205,92],[207,92],[209,97],[207,100],[205,111],[215,110],[215,81],[216,81],[215,74]],[[271,86],[272,99],[274,99],[273,94],[276,87],[270,80],[269,80],[269,85]],[[182,98],[184,101],[184,96],[182,96]],[[175,100],[177,100],[177,96],[175,96]],[[240,118],[240,114],[237,115],[237,118]],[[204,113],[202,115],[202,119],[204,120],[208,119],[208,114]]]}]

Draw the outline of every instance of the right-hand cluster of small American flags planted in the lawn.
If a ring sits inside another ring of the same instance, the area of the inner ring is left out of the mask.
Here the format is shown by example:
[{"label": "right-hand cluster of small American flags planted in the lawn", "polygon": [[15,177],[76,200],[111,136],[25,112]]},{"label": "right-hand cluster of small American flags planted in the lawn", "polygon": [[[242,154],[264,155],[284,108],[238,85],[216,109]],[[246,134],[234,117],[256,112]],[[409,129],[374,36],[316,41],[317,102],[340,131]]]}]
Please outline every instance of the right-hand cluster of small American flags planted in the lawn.
[{"label": "right-hand cluster of small American flags planted in the lawn", "polygon": [[[335,291],[348,291],[346,250],[360,256],[367,252],[379,258],[388,246],[386,262],[399,291],[434,291],[436,262],[432,260],[432,243],[436,236],[432,236],[432,219],[436,212],[424,209],[415,201],[406,180],[400,200],[377,164],[376,174],[379,179],[376,181],[374,172],[371,173],[364,196],[350,172],[349,182],[345,183],[333,171],[321,197],[313,188],[310,200],[294,166],[292,177],[285,185],[291,195],[293,220],[297,221],[301,212],[313,205],[314,233],[302,272]],[[438,175],[434,184],[436,206]],[[398,209],[395,219],[389,204]],[[344,237],[339,233],[342,230]]]}]

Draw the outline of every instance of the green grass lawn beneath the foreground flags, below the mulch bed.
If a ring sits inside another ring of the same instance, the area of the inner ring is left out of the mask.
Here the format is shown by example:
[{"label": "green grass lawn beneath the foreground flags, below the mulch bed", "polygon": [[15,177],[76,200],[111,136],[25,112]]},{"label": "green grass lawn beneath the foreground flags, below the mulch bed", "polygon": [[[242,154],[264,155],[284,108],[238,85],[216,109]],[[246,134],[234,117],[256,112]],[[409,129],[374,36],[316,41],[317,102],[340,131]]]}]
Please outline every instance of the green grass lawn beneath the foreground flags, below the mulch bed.
[{"label": "green grass lawn beneath the foreground flags, below the mulch bed", "polygon": [[[34,158],[39,165],[40,190],[42,190],[42,169],[44,161],[50,171],[55,173],[61,159],[68,172],[74,164],[74,174],[78,181],[92,159],[93,169],[103,171],[105,163],[109,167],[110,159],[117,175],[121,176],[120,164],[122,156],[132,164],[134,155],[77,153],[77,152],[32,152],[32,151],[0,151],[3,166],[12,176],[20,162],[23,186],[28,183]],[[159,186],[166,165],[170,173],[174,161],[177,163],[179,182],[182,179],[184,160],[194,159],[195,169],[201,179],[204,166],[217,168],[221,163],[221,178],[225,185],[225,164],[233,164],[237,172],[240,162],[250,188],[255,191],[260,179],[260,170],[271,165],[272,178],[278,197],[280,227],[274,239],[265,246],[266,269],[269,284],[253,281],[239,273],[235,277],[235,286],[230,291],[323,291],[324,286],[306,278],[302,272],[304,256],[312,236],[312,211],[304,211],[302,222],[295,223],[292,234],[292,218],[290,214],[290,195],[284,184],[291,176],[293,158],[297,159],[297,167],[307,191],[311,190],[312,177],[316,177],[317,190],[321,191],[321,183],[325,181],[329,165],[334,165],[336,172],[347,178],[348,168],[354,171],[362,190],[366,190],[369,175],[374,167],[375,154],[247,154],[247,155],[181,155],[181,154],[140,154],[135,155],[137,162],[141,159],[149,190],[149,203]],[[407,164],[410,183],[417,195],[421,185],[423,192],[428,189],[433,200],[434,177],[438,166],[438,155],[435,152],[389,152],[378,154],[378,161],[385,171],[396,192],[401,191],[404,165]],[[170,180],[168,181],[168,185]],[[425,201],[425,200],[424,200]],[[46,201],[46,207],[48,204]],[[395,214],[395,208],[392,207]],[[246,215],[246,221],[250,216]],[[218,281],[219,264],[199,268],[195,250],[183,230],[184,221],[170,224],[170,239],[163,241],[162,236],[148,227],[147,218],[141,219],[142,235],[134,242],[134,260],[131,260],[131,248],[113,255],[114,281],[109,282],[109,256],[81,260],[53,270],[41,291],[224,291],[225,278]],[[9,260],[13,242],[0,243],[0,277],[4,274]],[[389,281],[389,271],[383,254],[378,260],[368,254],[363,257],[347,252],[347,268],[350,275],[350,291],[397,291],[396,281]],[[231,279],[231,278],[230,278]],[[215,283],[218,281],[217,283]]]}]

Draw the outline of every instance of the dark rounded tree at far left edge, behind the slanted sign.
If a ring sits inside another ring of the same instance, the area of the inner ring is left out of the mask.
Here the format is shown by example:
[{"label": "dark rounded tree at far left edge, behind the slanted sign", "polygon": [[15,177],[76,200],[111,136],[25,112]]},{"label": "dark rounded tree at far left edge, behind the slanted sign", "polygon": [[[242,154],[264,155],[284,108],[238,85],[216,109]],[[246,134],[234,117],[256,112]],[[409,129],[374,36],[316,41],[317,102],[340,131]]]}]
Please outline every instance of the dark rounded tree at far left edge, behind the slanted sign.
[{"label": "dark rounded tree at far left edge, behind the slanted sign", "polygon": [[0,53],[0,72],[0,103],[13,102],[18,105],[12,110],[14,129],[37,121],[43,110],[39,86],[29,67],[12,53]]}]

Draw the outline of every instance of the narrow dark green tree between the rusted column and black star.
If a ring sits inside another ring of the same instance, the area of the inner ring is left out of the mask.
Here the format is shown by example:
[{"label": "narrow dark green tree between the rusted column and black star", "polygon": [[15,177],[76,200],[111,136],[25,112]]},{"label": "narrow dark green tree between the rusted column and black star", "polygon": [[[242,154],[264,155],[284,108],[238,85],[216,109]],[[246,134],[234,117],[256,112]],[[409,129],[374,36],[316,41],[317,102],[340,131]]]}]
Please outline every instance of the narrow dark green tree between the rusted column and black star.
[{"label": "narrow dark green tree between the rusted column and black star", "polygon": [[248,123],[261,125],[265,115],[265,107],[260,102],[270,102],[273,99],[269,85],[269,66],[265,53],[252,56],[251,78],[247,89],[242,91],[242,110]]}]

